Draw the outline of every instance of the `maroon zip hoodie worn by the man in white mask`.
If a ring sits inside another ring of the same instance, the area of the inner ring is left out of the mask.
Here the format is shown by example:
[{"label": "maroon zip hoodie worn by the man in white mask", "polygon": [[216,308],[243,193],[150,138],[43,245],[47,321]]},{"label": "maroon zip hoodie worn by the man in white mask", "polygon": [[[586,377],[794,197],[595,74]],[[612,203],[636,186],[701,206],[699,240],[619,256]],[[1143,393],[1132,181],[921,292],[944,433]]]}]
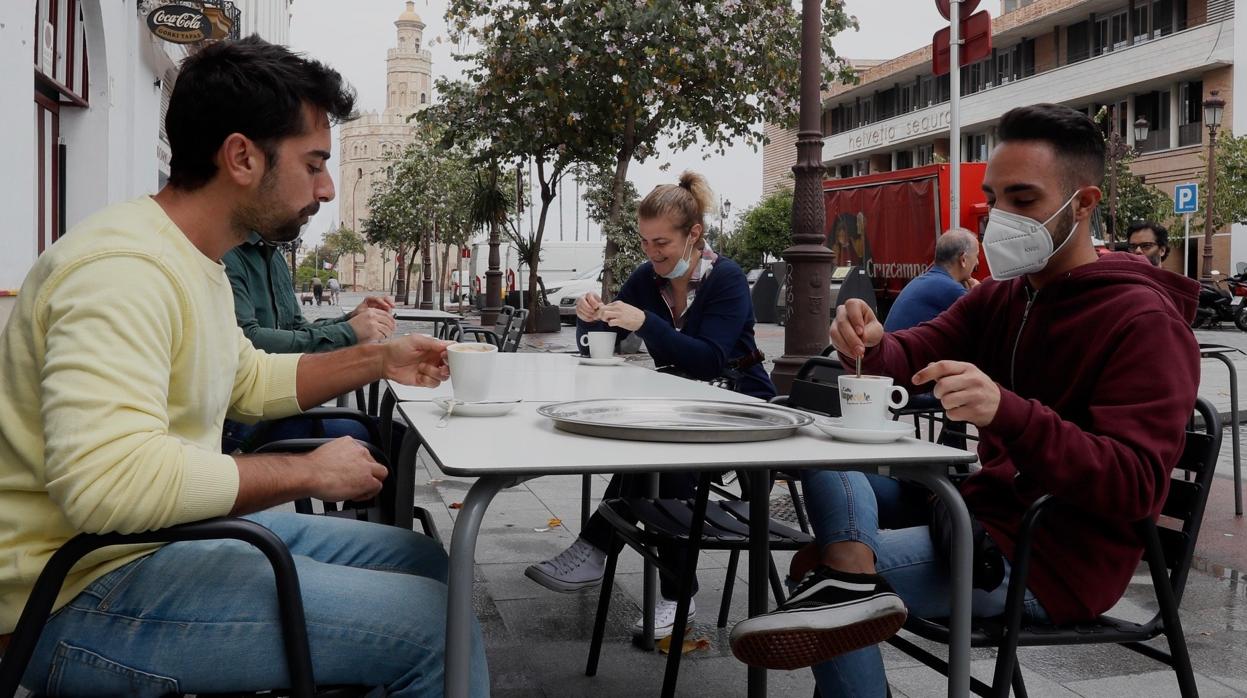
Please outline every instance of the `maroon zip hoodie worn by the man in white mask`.
[{"label": "maroon zip hoodie worn by the man in white mask", "polygon": [[1106,254],[1038,292],[1025,278],[985,282],[862,361],[910,388],[932,361],[970,361],[1000,385],[979,430],[983,470],[961,495],[1010,560],[1026,509],[1055,495],[1028,586],[1056,622],[1111,608],[1142,557],[1131,524],[1160,516],[1200,381],[1198,288]]}]

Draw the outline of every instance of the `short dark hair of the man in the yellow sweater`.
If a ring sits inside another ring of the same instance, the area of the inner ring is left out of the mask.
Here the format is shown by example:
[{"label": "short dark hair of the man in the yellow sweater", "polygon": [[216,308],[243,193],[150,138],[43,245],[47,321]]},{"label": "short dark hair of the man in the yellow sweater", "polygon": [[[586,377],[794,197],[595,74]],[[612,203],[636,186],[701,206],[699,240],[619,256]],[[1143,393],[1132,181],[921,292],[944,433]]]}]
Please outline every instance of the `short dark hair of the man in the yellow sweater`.
[{"label": "short dark hair of the man in the yellow sweater", "polygon": [[182,61],[165,112],[172,151],[168,183],[197,189],[217,173],[231,133],[254,141],[269,165],[277,143],[303,133],[303,105],[330,122],[354,117],[355,92],[338,71],[252,35],[212,44]]}]

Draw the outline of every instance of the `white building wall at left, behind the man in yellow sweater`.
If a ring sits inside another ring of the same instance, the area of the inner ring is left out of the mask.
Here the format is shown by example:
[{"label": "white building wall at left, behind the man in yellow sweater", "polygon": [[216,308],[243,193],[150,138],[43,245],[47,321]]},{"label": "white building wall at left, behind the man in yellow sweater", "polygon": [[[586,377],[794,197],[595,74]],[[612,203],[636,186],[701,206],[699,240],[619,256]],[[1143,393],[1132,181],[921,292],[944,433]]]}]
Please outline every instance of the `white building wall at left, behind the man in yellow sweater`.
[{"label": "white building wall at left, behind the man in yellow sweater", "polygon": [[[180,2],[241,16],[242,34],[289,34],[291,0]],[[147,27],[160,2],[0,2],[0,323],[42,251],[100,208],[156,192],[168,177],[162,115],[195,45]],[[241,10],[241,11],[234,11]],[[254,10],[248,15],[249,10]],[[248,26],[246,17],[257,24]],[[214,22],[216,24],[216,22]],[[34,66],[34,85],[31,85]],[[32,97],[24,98],[21,95]]]}]

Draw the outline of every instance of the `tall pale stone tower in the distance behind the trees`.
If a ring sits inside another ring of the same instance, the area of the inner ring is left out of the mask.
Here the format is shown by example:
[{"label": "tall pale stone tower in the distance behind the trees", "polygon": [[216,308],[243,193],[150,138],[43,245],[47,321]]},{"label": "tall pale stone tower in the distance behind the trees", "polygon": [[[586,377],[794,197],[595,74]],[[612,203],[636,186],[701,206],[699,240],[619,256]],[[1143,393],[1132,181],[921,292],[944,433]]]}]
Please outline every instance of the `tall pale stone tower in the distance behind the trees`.
[{"label": "tall pale stone tower in the distance behind the trees", "polygon": [[[408,118],[433,100],[433,55],[424,50],[425,24],[415,14],[415,2],[407,2],[394,27],[397,45],[385,59],[385,110],[365,112],[339,127],[338,212],[342,224],[359,234],[373,187],[389,177],[390,158],[412,142],[415,127]],[[388,290],[397,269],[395,259],[374,246],[338,264],[342,283],[358,290]]]}]

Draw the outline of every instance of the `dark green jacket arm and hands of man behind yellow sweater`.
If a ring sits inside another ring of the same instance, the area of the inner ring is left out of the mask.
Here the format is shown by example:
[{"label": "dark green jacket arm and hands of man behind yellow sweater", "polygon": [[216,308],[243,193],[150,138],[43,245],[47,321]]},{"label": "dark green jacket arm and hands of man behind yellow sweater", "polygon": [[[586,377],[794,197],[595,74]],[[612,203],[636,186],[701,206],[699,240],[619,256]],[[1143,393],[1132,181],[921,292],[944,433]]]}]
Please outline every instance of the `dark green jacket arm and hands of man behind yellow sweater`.
[{"label": "dark green jacket arm and hands of man behind yellow sweater", "polygon": [[289,267],[256,233],[226,253],[223,262],[234,292],[234,318],[257,349],[271,354],[332,351],[394,333],[394,302],[384,295],[364,298],[343,317],[307,322]]}]

